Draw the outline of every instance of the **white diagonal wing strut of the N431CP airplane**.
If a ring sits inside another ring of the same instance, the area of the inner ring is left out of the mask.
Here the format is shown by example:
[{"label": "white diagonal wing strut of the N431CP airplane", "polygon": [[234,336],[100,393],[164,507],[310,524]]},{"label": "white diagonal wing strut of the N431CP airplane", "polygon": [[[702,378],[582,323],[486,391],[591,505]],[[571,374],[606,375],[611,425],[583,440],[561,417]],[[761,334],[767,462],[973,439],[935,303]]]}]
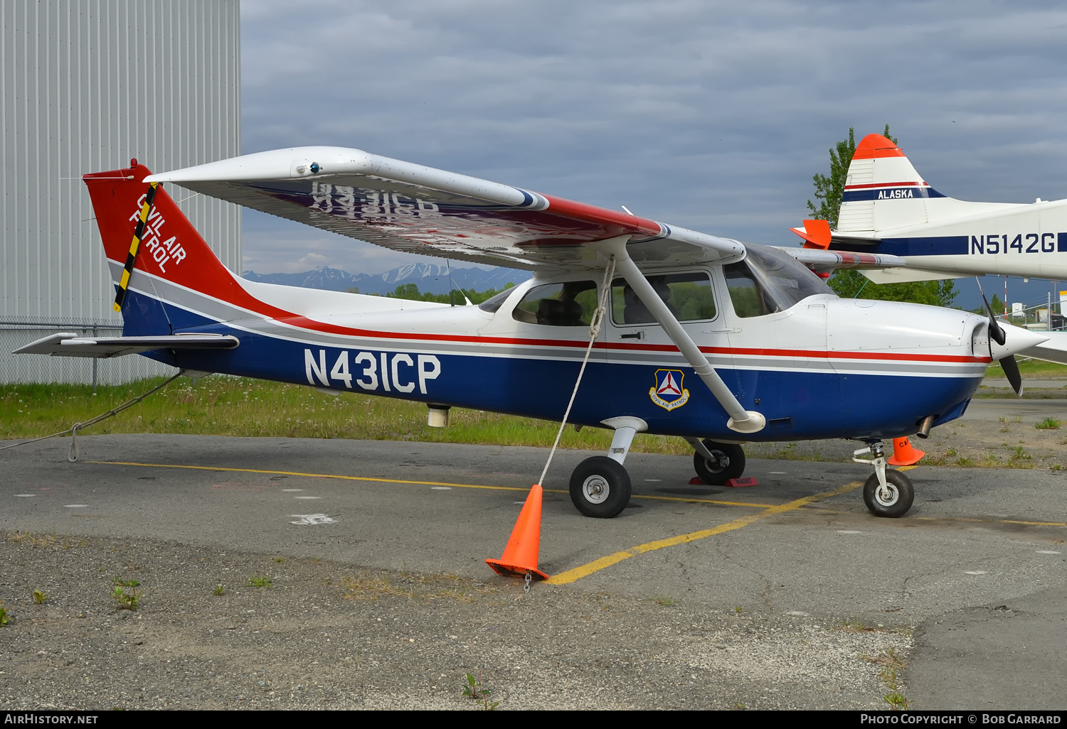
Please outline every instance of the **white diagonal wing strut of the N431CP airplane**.
[{"label": "white diagonal wing strut of the N431CP airplane", "polygon": [[704,382],[707,389],[712,391],[715,399],[719,401],[719,404],[730,415],[727,427],[738,433],[757,433],[762,431],[767,424],[767,419],[759,412],[746,410],[737,402],[733,392],[730,391],[727,384],[719,377],[719,373],[707,361],[704,353],[700,351],[700,347],[692,341],[678,319],[674,318],[674,314],[671,313],[667,305],[659,298],[659,294],[655,292],[649,280],[644,278],[644,274],[641,273],[637,264],[630,258],[630,254],[626,253],[626,241],[628,240],[628,236],[620,236],[604,241],[596,241],[590,245],[605,254],[615,254],[616,266],[619,273],[622,274],[622,277],[634,289],[634,293],[640,297],[641,303],[649,309],[649,312],[659,322],[664,331],[667,333],[667,336],[674,342],[679,352],[689,362],[692,371]]}]

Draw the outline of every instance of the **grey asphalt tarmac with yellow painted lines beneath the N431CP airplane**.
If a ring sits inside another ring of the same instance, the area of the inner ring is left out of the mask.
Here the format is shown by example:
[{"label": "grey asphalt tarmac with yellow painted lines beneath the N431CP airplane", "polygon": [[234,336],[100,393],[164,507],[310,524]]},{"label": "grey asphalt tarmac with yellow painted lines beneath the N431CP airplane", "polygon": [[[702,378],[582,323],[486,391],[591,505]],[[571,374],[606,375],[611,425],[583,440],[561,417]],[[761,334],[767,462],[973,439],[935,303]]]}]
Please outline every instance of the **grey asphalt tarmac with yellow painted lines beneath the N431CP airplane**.
[{"label": "grey asphalt tarmac with yellow painted lines beneath the N431CP airplane", "polygon": [[[975,401],[968,417],[998,417],[1017,403]],[[0,453],[0,532],[453,574],[500,589],[513,583],[484,560],[500,555],[547,454],[208,436],[80,441],[75,464],[66,460],[66,442]],[[688,457],[635,453],[626,461],[631,507],[598,520],[582,517],[566,493],[570,471],[590,455],[557,453],[546,479],[540,568],[554,580],[535,585],[534,595],[557,602],[611,595],[633,604],[680,604],[691,615],[754,616],[763,628],[753,630],[766,633],[753,641],[797,621],[834,636],[885,634],[885,646],[895,646],[888,654],[906,665],[901,687],[912,708],[1064,708],[1063,472],[919,467],[909,473],[912,511],[878,519],[861,499],[870,473],[863,465],[750,460],[746,475],[759,485],[730,489],[690,485]],[[17,565],[0,560],[0,567],[5,584],[22,584]],[[632,613],[641,620],[630,627],[634,634],[658,630],[654,614]],[[690,657],[694,679],[728,670],[722,655]],[[841,668],[834,661],[817,670],[830,677]],[[872,691],[847,706],[885,707]],[[845,706],[806,701],[765,706]]]}]

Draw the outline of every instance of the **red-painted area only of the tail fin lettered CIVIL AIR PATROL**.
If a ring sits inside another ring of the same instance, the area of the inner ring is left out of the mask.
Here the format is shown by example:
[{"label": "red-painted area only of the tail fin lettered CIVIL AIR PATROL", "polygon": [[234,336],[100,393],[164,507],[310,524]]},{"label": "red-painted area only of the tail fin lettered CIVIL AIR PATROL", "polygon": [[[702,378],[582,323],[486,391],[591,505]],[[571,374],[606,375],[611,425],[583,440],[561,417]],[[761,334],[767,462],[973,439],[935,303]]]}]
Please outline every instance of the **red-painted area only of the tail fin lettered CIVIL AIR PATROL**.
[{"label": "red-painted area only of the tail fin lettered CIVIL AIR PATROL", "polygon": [[[82,178],[93,200],[96,224],[116,285],[148,191],[143,180],[152,174],[143,164],[133,162],[133,166],[126,169],[93,173]],[[243,293],[234,275],[204,242],[162,185],[156,193],[145,222],[131,284],[136,282],[139,272],[221,298],[225,298],[227,293],[233,295],[235,290]]]}]

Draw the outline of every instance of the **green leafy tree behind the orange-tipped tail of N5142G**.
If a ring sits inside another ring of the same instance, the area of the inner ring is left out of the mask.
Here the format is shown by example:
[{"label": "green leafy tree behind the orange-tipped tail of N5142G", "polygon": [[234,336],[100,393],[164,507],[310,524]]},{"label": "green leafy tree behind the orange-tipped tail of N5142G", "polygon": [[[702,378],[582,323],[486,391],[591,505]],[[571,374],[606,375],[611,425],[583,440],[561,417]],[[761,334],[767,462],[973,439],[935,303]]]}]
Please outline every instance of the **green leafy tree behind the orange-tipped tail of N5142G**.
[{"label": "green leafy tree behind the orange-tipped tail of N5142G", "polygon": [[[897,144],[895,136],[890,136],[889,124],[881,135]],[[838,227],[838,213],[841,210],[841,199],[845,193],[845,181],[848,178],[848,165],[856,153],[856,129],[848,128],[848,139],[838,142],[830,149],[830,174],[814,175],[815,203],[808,200],[808,211],[816,220],[828,221],[830,228]],[[874,298],[890,302],[911,302],[913,304],[929,304],[930,306],[952,306],[958,292],[953,279],[940,281],[908,281],[905,284],[872,284],[866,276],[853,269],[843,269],[830,277],[830,288],[839,296],[846,298]]]}]

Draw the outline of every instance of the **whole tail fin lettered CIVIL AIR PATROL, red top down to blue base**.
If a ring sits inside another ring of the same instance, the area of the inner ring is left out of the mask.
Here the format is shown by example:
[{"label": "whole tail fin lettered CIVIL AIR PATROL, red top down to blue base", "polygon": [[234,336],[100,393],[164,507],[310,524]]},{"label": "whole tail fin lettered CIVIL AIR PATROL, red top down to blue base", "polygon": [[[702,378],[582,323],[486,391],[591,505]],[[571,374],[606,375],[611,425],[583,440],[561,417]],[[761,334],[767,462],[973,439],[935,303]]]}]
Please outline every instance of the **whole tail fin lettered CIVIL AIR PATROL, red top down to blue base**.
[{"label": "whole tail fin lettered CIVIL AIR PATROL, red top down to blue base", "polygon": [[[146,184],[152,173],[132,160],[125,169],[93,173],[89,188],[96,224],[115,285],[115,307],[124,335],[173,334],[157,281],[214,297],[240,289],[162,184]],[[243,293],[243,290],[241,291]]]}]

